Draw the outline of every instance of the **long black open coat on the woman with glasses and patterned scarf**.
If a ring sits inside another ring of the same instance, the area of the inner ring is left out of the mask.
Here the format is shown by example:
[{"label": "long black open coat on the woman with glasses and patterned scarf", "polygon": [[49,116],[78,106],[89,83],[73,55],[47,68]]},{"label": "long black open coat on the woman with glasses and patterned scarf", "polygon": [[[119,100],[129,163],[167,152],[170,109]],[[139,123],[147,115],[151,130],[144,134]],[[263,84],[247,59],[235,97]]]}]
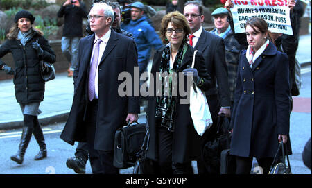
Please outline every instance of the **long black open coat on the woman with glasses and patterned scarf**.
[{"label": "long black open coat on the woman with glasses and patterned scarf", "polygon": [[[153,66],[150,74],[153,75],[153,80],[150,80],[150,85],[156,83],[156,73],[159,72],[160,60],[162,58],[162,52],[164,48],[155,51]],[[180,71],[187,68],[187,65],[191,66],[193,60],[194,49],[189,46],[187,52],[184,54],[182,60],[182,65]],[[211,78],[207,74],[205,69],[204,59],[202,58],[202,53],[198,51],[196,53],[196,62],[194,68],[198,70],[198,75],[204,80],[204,85],[200,87],[202,90],[207,90],[211,85]],[[177,71],[177,74],[178,72]],[[184,88],[187,88],[187,81],[184,82]],[[190,89],[190,88],[189,88]],[[157,153],[157,125],[155,123],[155,110],[156,110],[156,100],[155,97],[155,87],[154,87],[154,96],[148,96],[148,109],[147,109],[147,120],[148,126],[150,128],[150,142],[147,151],[147,157],[152,160],[158,159]],[[189,104],[180,104],[180,99],[182,97],[177,95],[177,105],[175,111],[175,132],[173,132],[173,145],[172,145],[172,160],[173,162],[189,162],[191,160],[200,159],[200,142],[201,137],[196,133],[196,130],[193,126],[193,121],[191,119],[191,114],[189,112]]]}]

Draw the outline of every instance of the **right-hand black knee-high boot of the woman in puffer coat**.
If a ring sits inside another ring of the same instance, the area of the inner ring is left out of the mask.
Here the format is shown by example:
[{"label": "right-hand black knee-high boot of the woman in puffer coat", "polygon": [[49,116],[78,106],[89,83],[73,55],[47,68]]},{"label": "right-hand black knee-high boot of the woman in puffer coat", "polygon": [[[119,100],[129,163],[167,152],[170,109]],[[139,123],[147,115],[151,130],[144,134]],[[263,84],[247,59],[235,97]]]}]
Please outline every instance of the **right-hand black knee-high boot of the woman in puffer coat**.
[{"label": "right-hand black knee-high boot of the woman in puffer coat", "polygon": [[38,121],[38,117],[35,117],[33,120],[33,135],[39,144],[40,151],[37,155],[35,155],[35,160],[42,160],[47,156],[46,152],[46,143],[44,143],[44,135],[42,133],[42,129],[40,128],[40,123]]}]

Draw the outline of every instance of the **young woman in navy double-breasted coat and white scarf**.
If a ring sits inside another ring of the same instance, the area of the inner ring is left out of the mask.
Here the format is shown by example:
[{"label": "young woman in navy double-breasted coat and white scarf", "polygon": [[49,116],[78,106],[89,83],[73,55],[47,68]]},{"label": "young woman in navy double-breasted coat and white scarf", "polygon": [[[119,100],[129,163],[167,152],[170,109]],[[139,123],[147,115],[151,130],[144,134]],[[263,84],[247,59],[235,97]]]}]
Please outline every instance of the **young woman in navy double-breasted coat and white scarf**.
[{"label": "young woman in navy double-breasted coat and white scarf", "polygon": [[245,24],[247,51],[241,51],[231,126],[231,155],[236,173],[250,173],[257,157],[268,173],[281,140],[289,133],[290,85],[288,58],[270,42],[263,19]]}]

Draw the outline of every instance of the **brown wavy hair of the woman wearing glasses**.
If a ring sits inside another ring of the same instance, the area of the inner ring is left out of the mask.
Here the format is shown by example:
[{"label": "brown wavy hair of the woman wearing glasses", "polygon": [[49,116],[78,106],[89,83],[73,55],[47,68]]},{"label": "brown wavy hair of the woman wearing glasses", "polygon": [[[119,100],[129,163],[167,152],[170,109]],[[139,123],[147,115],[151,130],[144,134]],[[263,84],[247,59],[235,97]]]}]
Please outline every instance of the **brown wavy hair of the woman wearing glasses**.
[{"label": "brown wavy hair of the woman wearing glasses", "polygon": [[169,22],[171,22],[173,26],[177,28],[183,28],[183,31],[185,33],[184,40],[189,40],[188,36],[191,33],[191,28],[189,27],[187,19],[180,12],[175,11],[164,15],[164,17],[162,18],[162,23],[160,24],[160,37],[164,44],[168,44],[168,40],[166,40],[166,28]]}]

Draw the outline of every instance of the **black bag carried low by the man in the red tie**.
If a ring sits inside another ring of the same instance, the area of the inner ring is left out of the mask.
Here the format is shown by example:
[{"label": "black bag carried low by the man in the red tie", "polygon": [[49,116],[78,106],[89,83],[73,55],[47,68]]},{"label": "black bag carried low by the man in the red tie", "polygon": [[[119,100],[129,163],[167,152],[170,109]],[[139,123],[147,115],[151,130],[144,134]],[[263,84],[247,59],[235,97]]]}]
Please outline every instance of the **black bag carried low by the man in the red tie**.
[{"label": "black bag carried low by the man in the red tie", "polygon": [[214,139],[205,143],[202,148],[202,158],[205,162],[207,171],[211,174],[220,173],[221,152],[229,148],[231,142],[231,133],[229,133],[229,118],[218,117]]}]

